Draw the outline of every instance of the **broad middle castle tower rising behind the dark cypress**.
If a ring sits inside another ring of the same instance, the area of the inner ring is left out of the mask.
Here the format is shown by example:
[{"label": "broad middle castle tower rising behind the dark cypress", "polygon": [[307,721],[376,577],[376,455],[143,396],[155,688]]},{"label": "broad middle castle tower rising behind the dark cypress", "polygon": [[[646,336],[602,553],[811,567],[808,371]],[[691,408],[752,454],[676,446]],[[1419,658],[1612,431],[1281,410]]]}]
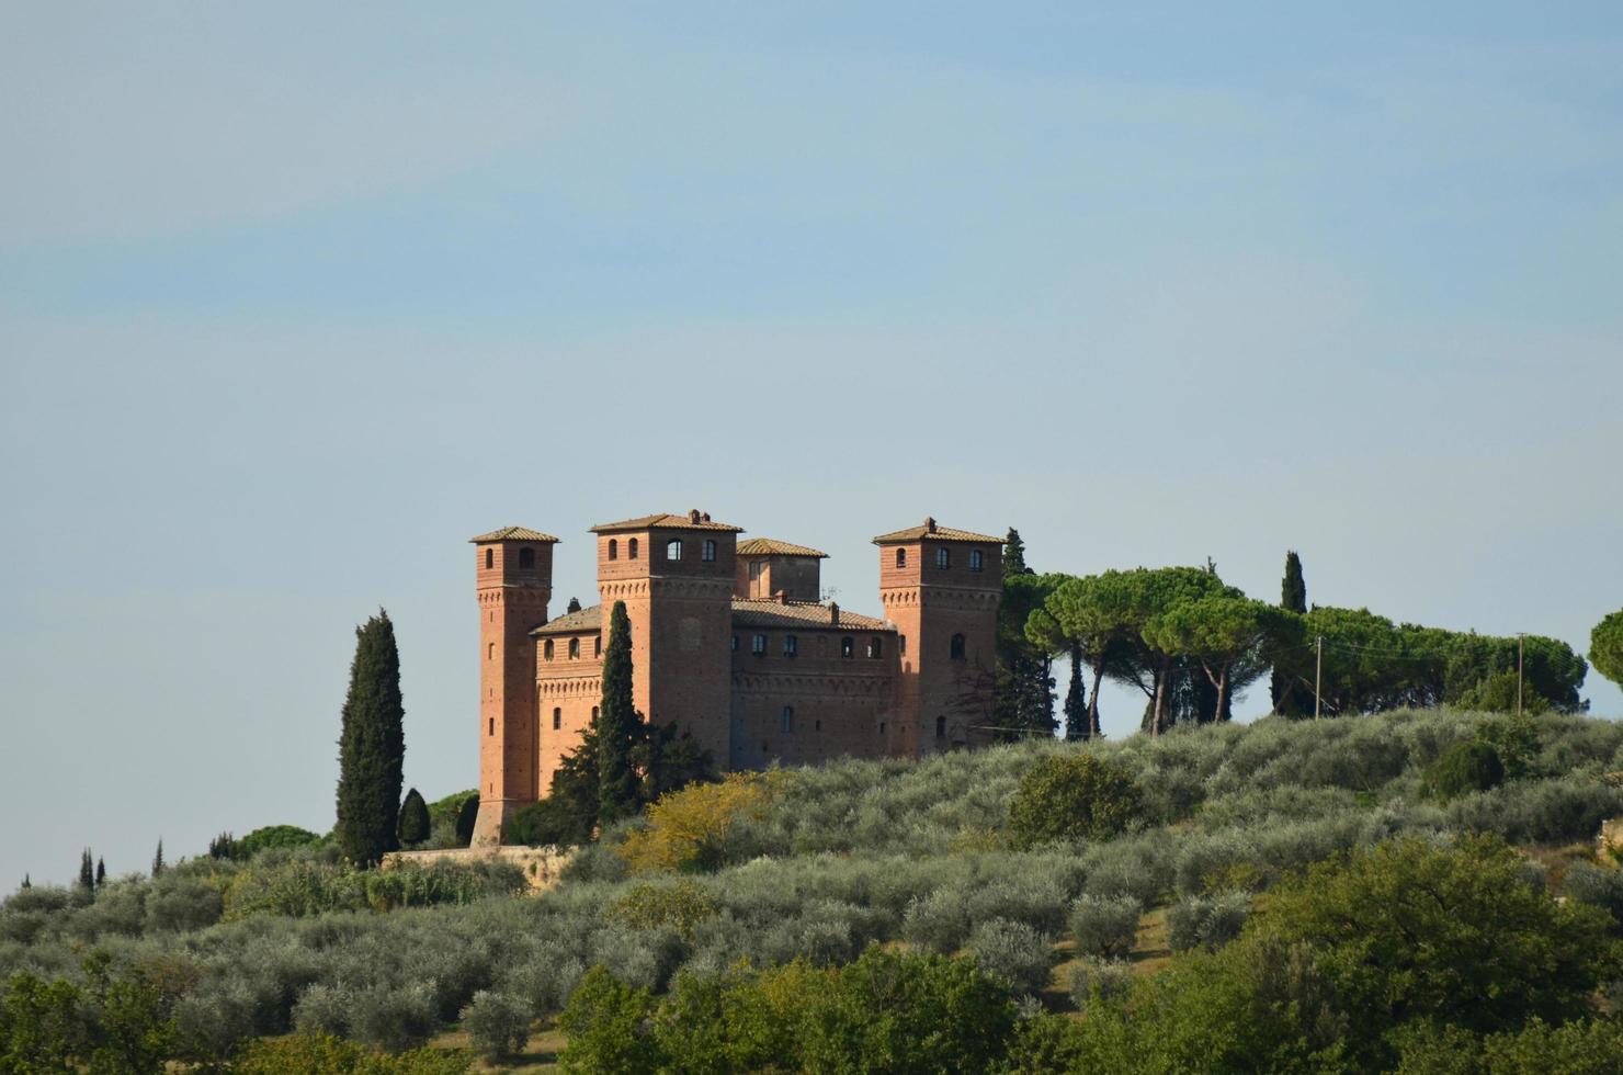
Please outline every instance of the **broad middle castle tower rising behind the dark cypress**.
[{"label": "broad middle castle tower rising behind the dark cypress", "polygon": [[652,724],[688,729],[730,757],[732,589],[738,526],[701,512],[592,526],[604,646],[609,612],[631,620],[631,698]]}]

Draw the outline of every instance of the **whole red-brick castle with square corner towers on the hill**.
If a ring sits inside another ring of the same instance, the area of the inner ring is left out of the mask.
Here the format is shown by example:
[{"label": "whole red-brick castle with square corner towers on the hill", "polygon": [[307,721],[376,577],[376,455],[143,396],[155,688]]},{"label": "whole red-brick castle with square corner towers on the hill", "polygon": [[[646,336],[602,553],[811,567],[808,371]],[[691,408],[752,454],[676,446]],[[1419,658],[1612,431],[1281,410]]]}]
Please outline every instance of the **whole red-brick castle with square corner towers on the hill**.
[{"label": "whole red-brick castle with square corner towers on the hill", "polygon": [[936,526],[880,547],[885,619],[823,602],[824,554],[708,513],[591,529],[604,604],[547,619],[552,549],[523,526],[472,539],[479,588],[476,844],[544,796],[597,713],[609,614],[631,619],[633,702],[724,770],[920,757],[988,740],[1003,541]]}]

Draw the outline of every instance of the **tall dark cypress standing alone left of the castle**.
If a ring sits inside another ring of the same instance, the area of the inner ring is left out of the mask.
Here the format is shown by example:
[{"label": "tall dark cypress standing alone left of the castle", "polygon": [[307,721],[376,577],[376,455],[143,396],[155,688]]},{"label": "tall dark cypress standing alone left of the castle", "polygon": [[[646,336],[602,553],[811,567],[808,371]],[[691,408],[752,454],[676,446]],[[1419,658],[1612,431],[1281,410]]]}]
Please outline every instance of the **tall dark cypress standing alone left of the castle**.
[{"label": "tall dark cypress standing alone left of the castle", "polygon": [[394,625],[378,611],[355,628],[355,659],[338,740],[338,846],[351,862],[375,866],[394,851],[406,763],[406,706]]}]

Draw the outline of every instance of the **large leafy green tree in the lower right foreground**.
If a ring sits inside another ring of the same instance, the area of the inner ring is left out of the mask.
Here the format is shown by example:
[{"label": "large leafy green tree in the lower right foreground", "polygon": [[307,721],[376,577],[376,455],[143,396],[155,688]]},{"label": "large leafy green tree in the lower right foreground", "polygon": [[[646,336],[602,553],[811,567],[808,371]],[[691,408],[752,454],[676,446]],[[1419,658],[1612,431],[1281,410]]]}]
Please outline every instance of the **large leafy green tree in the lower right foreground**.
[{"label": "large leafy green tree in the lower right foreground", "polygon": [[1313,947],[1370,1060],[1414,1018],[1479,1033],[1578,1018],[1617,960],[1607,913],[1529,885],[1495,836],[1355,848],[1277,888],[1266,919]]}]

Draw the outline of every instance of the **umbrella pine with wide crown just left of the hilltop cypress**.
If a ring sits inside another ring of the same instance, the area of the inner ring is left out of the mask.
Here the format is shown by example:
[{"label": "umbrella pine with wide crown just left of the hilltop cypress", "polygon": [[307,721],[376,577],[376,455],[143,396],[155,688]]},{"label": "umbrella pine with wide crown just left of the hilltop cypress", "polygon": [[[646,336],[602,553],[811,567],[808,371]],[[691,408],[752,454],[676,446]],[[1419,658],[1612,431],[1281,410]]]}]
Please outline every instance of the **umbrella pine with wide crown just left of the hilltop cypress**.
[{"label": "umbrella pine with wide crown just left of the hilltop cypress", "polygon": [[1298,622],[1261,601],[1208,593],[1151,617],[1144,638],[1164,653],[1193,659],[1217,692],[1216,718],[1225,719],[1230,690],[1259,677],[1269,651],[1294,640]]}]

